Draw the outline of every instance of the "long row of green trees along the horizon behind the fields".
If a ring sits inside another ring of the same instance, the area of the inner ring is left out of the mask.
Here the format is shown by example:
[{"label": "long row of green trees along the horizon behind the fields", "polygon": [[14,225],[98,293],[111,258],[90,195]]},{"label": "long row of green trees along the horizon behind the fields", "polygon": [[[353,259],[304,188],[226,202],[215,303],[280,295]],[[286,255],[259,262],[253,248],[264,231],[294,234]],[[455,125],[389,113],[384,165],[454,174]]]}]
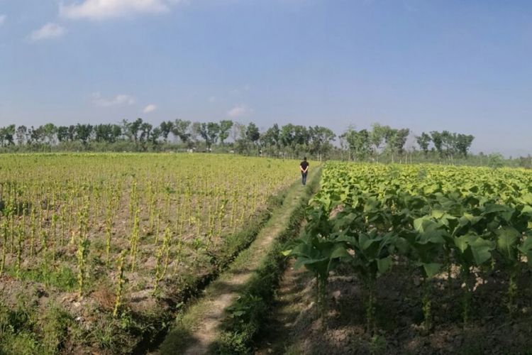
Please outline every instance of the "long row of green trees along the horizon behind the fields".
[{"label": "long row of green trees along the horizon behind the fields", "polygon": [[260,131],[256,124],[228,119],[211,122],[176,119],[158,126],[135,119],[118,124],[16,126],[0,128],[3,151],[233,151],[268,156],[311,155],[319,159],[392,161],[408,153],[439,158],[466,158],[471,135],[431,131],[414,136],[417,146],[406,147],[410,129],[373,124],[371,129],[348,127],[337,135],[325,126],[274,124]]}]

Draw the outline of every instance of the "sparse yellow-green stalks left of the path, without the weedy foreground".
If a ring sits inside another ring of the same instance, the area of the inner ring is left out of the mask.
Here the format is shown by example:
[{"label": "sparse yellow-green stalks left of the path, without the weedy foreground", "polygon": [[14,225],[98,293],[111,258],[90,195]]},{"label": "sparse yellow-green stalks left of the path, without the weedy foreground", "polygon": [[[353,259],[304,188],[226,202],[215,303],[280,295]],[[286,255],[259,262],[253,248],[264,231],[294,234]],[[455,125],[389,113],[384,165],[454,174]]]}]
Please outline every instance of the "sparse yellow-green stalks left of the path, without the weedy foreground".
[{"label": "sparse yellow-green stalks left of the path, without the weedy foreground", "polygon": [[99,294],[118,317],[133,296],[209,273],[226,236],[295,178],[293,161],[230,155],[4,155],[0,279],[87,305]]}]

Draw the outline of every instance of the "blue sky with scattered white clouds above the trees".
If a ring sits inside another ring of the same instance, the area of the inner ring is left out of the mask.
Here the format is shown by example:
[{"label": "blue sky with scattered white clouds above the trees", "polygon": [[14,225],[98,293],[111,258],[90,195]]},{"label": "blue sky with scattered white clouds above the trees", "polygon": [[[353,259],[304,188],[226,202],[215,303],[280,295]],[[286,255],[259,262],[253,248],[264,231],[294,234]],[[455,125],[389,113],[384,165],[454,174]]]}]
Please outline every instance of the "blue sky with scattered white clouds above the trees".
[{"label": "blue sky with scattered white clouds above the trees", "polygon": [[373,123],[532,153],[532,1],[0,0],[0,126]]}]

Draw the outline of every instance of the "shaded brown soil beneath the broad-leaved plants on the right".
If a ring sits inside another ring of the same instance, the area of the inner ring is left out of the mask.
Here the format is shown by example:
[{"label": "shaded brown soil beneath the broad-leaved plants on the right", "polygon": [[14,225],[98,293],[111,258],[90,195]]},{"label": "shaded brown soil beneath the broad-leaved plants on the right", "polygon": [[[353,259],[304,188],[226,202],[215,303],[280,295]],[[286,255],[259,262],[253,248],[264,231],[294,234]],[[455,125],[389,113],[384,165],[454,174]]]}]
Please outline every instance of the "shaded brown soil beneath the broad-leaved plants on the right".
[{"label": "shaded brown soil beneath the broad-leaved plants on the right", "polygon": [[519,280],[517,312],[504,305],[506,275],[479,271],[471,320],[462,323],[458,278],[433,280],[433,327],[423,329],[419,275],[396,266],[377,285],[377,332],[365,332],[364,291],[348,271],[328,285],[328,310],[319,317],[315,281],[304,269],[288,268],[270,324],[255,354],[530,354],[531,272]]}]

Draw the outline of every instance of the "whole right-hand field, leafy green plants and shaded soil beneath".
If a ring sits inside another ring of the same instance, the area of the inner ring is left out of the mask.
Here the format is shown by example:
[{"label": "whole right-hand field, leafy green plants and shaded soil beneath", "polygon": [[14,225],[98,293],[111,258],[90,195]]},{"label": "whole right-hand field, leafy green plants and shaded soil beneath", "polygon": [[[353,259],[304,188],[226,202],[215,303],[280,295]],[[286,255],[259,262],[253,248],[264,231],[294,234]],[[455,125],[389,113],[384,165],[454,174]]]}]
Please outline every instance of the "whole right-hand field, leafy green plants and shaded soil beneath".
[{"label": "whole right-hand field, leafy green plants and shaded soil beneath", "polygon": [[312,204],[289,253],[318,307],[288,322],[292,353],[530,351],[530,171],[331,162]]}]

